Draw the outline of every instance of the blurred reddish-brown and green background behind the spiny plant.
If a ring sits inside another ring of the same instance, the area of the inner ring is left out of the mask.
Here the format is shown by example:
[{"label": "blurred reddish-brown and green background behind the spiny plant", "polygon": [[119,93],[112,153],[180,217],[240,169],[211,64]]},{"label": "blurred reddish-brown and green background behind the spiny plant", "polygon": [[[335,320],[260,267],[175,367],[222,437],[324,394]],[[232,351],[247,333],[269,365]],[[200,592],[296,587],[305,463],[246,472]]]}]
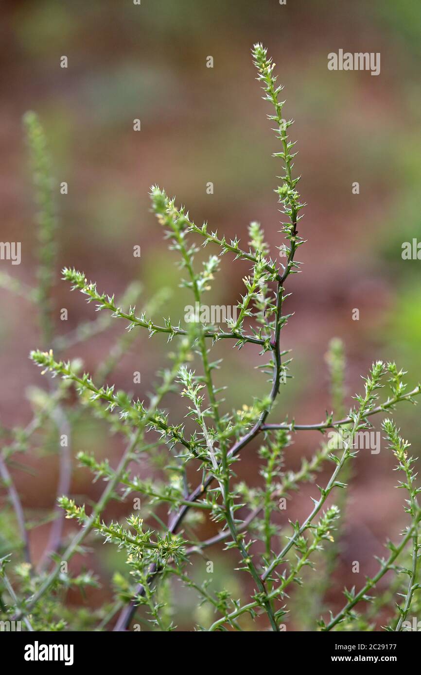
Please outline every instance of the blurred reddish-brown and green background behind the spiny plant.
[{"label": "blurred reddish-brown and green background behind the spiny plant", "polygon": [[[83,270],[97,281],[100,292],[116,296],[132,279],[140,281],[138,306],[160,288],[170,288],[172,297],[153,318],[159,323],[163,316],[174,322],[182,317],[190,298],[177,289],[175,254],[168,251],[149,211],[153,183],[176,194],[195,223],[206,220],[227,238],[237,234],[243,248],[247,225],[260,221],[276,256],[281,236],[273,190],[281,169],[271,155],[278,143],[250,54],[253,43],[262,41],[285,87],[284,115],[295,119],[290,130],[299,151],[295,175],[302,175],[299,189],[308,203],[300,228],[308,241],[298,254],[303,271],[290,277],[293,295],[285,304],[294,316],[282,332],[282,348],[293,350],[294,379],[282,391],[271,421],[289,415],[302,423],[316,422],[330,410],[324,354],[333,336],[345,343],[348,407],[362,387],[360,376],[376,358],[396,360],[409,371],[410,386],[416,385],[421,366],[420,262],[403,261],[401,245],[421,240],[417,0],[287,0],[287,5],[278,0],[142,0],[140,6],[129,0],[3,0],[1,15],[1,240],[22,242],[21,265],[1,261],[1,271],[34,283],[36,210],[22,134],[22,115],[32,109],[45,128],[57,180],[57,333],[97,317],[93,305],[59,280],[63,265]],[[327,55],[339,49],[380,52],[380,75],[329,71]],[[59,67],[62,55],[68,57],[67,69]],[[208,56],[214,68],[206,67]],[[141,132],[133,130],[136,118]],[[66,195],[59,194],[62,181],[68,183]],[[214,184],[214,194],[207,194],[208,182]],[[353,194],[354,182],[360,184],[360,194]],[[136,245],[141,246],[140,259],[133,257]],[[247,270],[247,264],[226,255],[209,302],[237,304]],[[59,321],[60,308],[68,309],[67,322]],[[359,321],[352,319],[355,308]],[[2,290],[0,317],[0,419],[5,427],[24,426],[32,414],[30,387],[47,387],[28,352],[50,345],[42,344],[36,316],[24,298]],[[85,369],[93,372],[124,328],[124,321],[115,321],[112,329],[61,356],[80,356]],[[265,376],[253,369],[259,363],[257,348],[248,345],[237,352],[218,344],[214,353],[226,358],[216,375],[217,384],[228,385],[224,410],[251,404],[253,396],[266,393]],[[148,340],[139,329],[112,382],[143,398],[165,354],[163,336]],[[133,371],[141,373],[138,385],[133,384]],[[182,404],[174,398],[170,405],[176,421],[184,414]],[[417,408],[401,404],[395,417],[418,455]],[[286,458],[291,469],[312,455],[320,434],[297,433],[293,441]],[[343,604],[343,585],[360,587],[365,575],[376,570],[373,556],[383,555],[386,536],[398,539],[406,522],[403,495],[393,489],[395,459],[385,446],[383,442],[379,455],[362,451],[354,463],[341,558],[326,593],[334,610]],[[121,439],[89,413],[72,433],[72,452],[93,451],[109,457],[113,466],[122,447]],[[259,483],[257,448],[255,443],[237,465],[239,480],[251,485]],[[13,475],[25,510],[41,522],[55,501],[58,462],[53,442],[39,450],[41,455],[22,456]],[[192,482],[196,480],[193,475]],[[101,483],[91,485],[88,470],[74,467],[72,495],[88,495],[89,504],[101,489]],[[287,516],[282,516],[285,522],[305,517],[315,491],[314,485],[305,485],[293,497]],[[0,495],[7,508],[5,491]],[[129,512],[130,504],[114,503],[107,517]],[[66,522],[66,528],[70,532],[74,524]],[[201,536],[216,531],[213,524],[203,524]],[[41,556],[48,532],[47,524],[31,530],[34,558]],[[70,595],[70,604],[82,607],[109,599],[112,570],[124,570],[114,547],[90,543],[91,552],[76,556],[71,568],[93,569],[102,586],[88,599]],[[230,585],[234,595],[241,595],[239,575],[230,571],[235,553],[212,549],[209,556],[216,584]],[[354,560],[360,561],[360,574],[351,572]],[[199,579],[205,575],[201,558],[195,561],[194,574]],[[178,627],[189,629],[193,620],[205,623],[202,610],[195,608],[195,594],[180,588],[176,593]],[[305,628],[305,621],[288,625],[288,630],[296,628]]]}]

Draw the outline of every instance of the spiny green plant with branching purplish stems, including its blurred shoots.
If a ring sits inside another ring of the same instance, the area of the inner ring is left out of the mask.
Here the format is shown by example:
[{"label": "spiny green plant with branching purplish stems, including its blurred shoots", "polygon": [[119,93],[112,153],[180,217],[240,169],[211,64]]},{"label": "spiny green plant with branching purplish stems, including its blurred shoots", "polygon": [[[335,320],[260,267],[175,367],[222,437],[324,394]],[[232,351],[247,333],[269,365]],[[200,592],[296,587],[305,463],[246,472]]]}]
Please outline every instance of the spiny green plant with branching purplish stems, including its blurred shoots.
[{"label": "spiny green plant with branching purplish stems, including its blurred shoots", "polygon": [[[295,143],[288,136],[293,121],[282,117],[284,101],[280,101],[282,86],[276,84],[275,64],[262,45],[254,46],[253,60],[257,79],[264,89],[264,99],[273,107],[269,119],[275,126],[276,138],[281,146],[274,157],[280,159],[283,165],[281,184],[276,190],[285,216],[281,227],[284,242],[279,246],[279,259],[283,263],[278,263],[278,257],[270,257],[264,232],[258,223],[251,223],[249,227],[247,250],[247,247],[240,247],[237,238],[228,241],[224,236],[209,231],[206,224],[201,227],[195,225],[186,209],[177,207],[175,200],[170,199],[164,190],[157,186],[151,188],[153,211],[165,229],[170,248],[180,257],[180,269],[184,276],[182,286],[193,294],[195,304],[199,307],[203,304],[203,296],[212,284],[222,255],[234,254],[234,259],[251,263],[251,273],[243,279],[245,294],[238,303],[237,317],[227,319],[227,329],[224,330],[220,325],[203,325],[201,321],[173,323],[168,318],[163,323],[155,323],[151,317],[162,298],[155,298],[144,311],[137,313],[134,298],[139,296],[139,288],[128,288],[126,296],[116,301],[114,296],[99,292],[97,285],[88,281],[84,273],[65,268],[63,279],[70,282],[72,290],[80,291],[89,302],[95,303],[100,318],[93,325],[82,326],[67,337],[54,337],[51,286],[57,219],[50,161],[38,118],[34,113],[25,117],[40,209],[38,287],[32,292],[7,275],[2,275],[0,281],[9,290],[22,294],[38,306],[44,348],[31,352],[30,358],[43,369],[43,374],[52,375],[57,378],[55,382],[59,382],[48,392],[41,389],[33,392],[34,418],[26,429],[2,429],[5,443],[0,456],[1,477],[14,507],[21,541],[12,541],[9,554],[1,560],[1,610],[5,618],[24,620],[27,630],[124,630],[133,623],[140,626],[137,617],[151,630],[172,630],[176,626],[170,600],[173,580],[177,578],[184,587],[199,595],[205,607],[212,609],[212,615],[204,612],[204,620],[197,622],[199,630],[243,630],[243,626],[249,627],[245,623],[247,615],[256,620],[258,626],[279,631],[284,628],[285,622],[291,618],[294,620],[289,601],[291,589],[297,589],[297,593],[292,594],[292,607],[299,607],[299,587],[305,587],[315,561],[325,565],[327,570],[327,576],[318,588],[320,607],[316,607],[320,614],[324,614],[324,591],[329,570],[335,568],[338,553],[334,543],[335,532],[340,526],[341,510],[346,503],[347,484],[344,479],[349,479],[349,466],[358,454],[357,439],[364,429],[370,429],[372,416],[391,412],[399,402],[414,403],[414,397],[421,393],[420,385],[407,391],[403,382],[405,373],[399,371],[394,363],[378,361],[365,379],[363,394],[355,396],[355,405],[345,415],[343,348],[339,341],[333,341],[327,361],[332,378],[332,400],[338,418],[332,413],[315,424],[296,423],[295,419],[277,423],[269,421],[280,386],[290,377],[289,352],[281,348],[280,335],[291,316],[284,313],[284,300],[288,296],[290,275],[299,271],[300,263],[296,261],[295,254],[304,243],[298,234],[298,226],[300,211],[305,205],[297,192],[299,177],[293,178]],[[212,254],[199,271],[195,267],[199,247],[194,243],[198,238],[202,246],[214,246],[219,253]],[[101,319],[104,315],[105,320]],[[128,333],[120,338],[96,375],[91,377],[83,372],[80,360],[66,361],[56,356],[70,344],[107,329],[109,317],[124,319],[128,324]],[[116,391],[114,386],[106,383],[120,356],[141,328],[149,331],[151,337],[157,333],[166,334],[168,342],[172,342],[171,350],[174,350],[169,354],[172,363],[159,374],[159,383],[148,402],[133,400],[125,391]],[[224,412],[222,389],[214,383],[214,371],[220,367],[220,362],[212,360],[211,352],[220,341],[232,341],[239,349],[247,344],[251,348],[259,348],[264,361],[262,369],[270,375],[267,396],[249,400],[239,412]],[[385,379],[389,380],[391,393],[380,400],[379,392],[385,386]],[[78,394],[76,404],[70,398],[72,387]],[[178,392],[186,402],[186,421],[174,423],[168,408],[162,407],[170,392]],[[116,468],[112,468],[107,458],[96,458],[86,452],[78,454],[79,463],[93,473],[95,480],[105,482],[101,497],[91,507],[76,504],[78,500],[69,495],[71,429],[80,422],[86,406],[109,423],[114,431],[126,437],[126,450]],[[60,438],[66,439],[66,443],[61,450],[58,511],[53,516],[46,555],[35,568],[28,545],[28,524],[8,465],[16,452],[32,447],[34,433],[40,429],[45,433],[58,433]],[[303,460],[301,468],[295,472],[285,472],[284,452],[293,434],[313,429],[322,433],[332,430],[336,439],[341,441],[340,450],[323,442],[312,460]],[[364,614],[356,614],[354,607],[360,601],[372,602],[368,594],[389,570],[394,570],[398,577],[404,573],[409,578],[403,602],[398,605],[397,620],[391,619],[389,629],[403,630],[412,602],[419,601],[417,573],[421,510],[417,494],[421,488],[416,487],[416,476],[412,470],[414,460],[407,457],[407,443],[399,437],[391,420],[384,421],[383,429],[399,461],[398,468],[405,473],[405,483],[400,487],[409,493],[406,510],[410,515],[410,524],[399,544],[387,544],[390,555],[379,561],[378,573],[368,578],[360,591],[345,589],[345,605],[335,616],[330,614],[330,620],[320,618],[320,614],[314,616],[314,630],[356,630],[362,626],[370,630],[368,618]],[[245,448],[257,437],[262,441],[259,449],[262,483],[257,489],[251,489],[244,483],[236,483],[234,469]],[[135,475],[133,466],[141,460],[143,464],[149,462],[151,468],[158,467],[161,478]],[[279,518],[282,500],[292,491],[297,491],[301,483],[314,481],[316,472],[326,464],[332,468],[330,478],[325,487],[317,486],[319,496],[318,499],[312,498],[314,506],[307,517],[302,522],[289,524]],[[190,484],[191,468],[199,471],[195,487]],[[334,494],[339,506],[328,504]],[[107,504],[114,499],[127,499],[129,495],[142,496],[144,518],[138,512],[131,514],[123,524],[109,522],[104,515]],[[162,504],[168,507],[168,523],[163,522],[157,513]],[[66,545],[63,514],[78,523],[76,535]],[[217,522],[220,533],[212,539],[200,541],[196,529],[203,518]],[[74,553],[83,551],[86,539],[93,533],[102,537],[105,543],[124,551],[130,574],[116,571],[114,601],[87,618],[83,612],[70,613],[66,606],[66,591],[70,587],[84,589],[95,586],[98,581],[86,572],[72,576],[67,570],[67,563]],[[210,588],[209,582],[198,583],[189,573],[189,562],[193,556],[205,556],[206,549],[218,543],[224,549],[234,549],[234,553],[227,556],[228,560],[234,560],[241,580],[246,574],[249,576],[249,583],[243,583],[241,599],[225,587]],[[397,559],[399,556],[403,558],[407,549],[411,549],[411,566],[399,568]],[[20,553],[23,561],[16,562],[15,558]],[[401,587],[399,582],[397,590]]]}]

